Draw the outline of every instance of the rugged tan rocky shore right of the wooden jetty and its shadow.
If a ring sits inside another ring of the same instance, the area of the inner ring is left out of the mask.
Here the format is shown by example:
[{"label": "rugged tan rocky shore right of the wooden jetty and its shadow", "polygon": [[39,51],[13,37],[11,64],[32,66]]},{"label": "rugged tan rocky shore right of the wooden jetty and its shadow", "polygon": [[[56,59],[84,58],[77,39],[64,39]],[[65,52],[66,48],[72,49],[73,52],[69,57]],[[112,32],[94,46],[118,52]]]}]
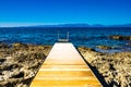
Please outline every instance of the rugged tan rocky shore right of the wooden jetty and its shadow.
[{"label": "rugged tan rocky shore right of the wooden jetty and its shadow", "polygon": [[104,77],[108,87],[131,87],[131,52],[110,54],[85,47],[80,47],[78,50]]}]

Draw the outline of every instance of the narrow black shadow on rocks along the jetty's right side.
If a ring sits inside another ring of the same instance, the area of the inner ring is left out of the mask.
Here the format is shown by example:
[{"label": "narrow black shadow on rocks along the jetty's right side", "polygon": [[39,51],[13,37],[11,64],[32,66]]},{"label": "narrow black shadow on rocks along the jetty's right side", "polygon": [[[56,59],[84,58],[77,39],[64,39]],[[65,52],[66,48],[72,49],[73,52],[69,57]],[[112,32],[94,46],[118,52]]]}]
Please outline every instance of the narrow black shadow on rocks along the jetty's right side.
[{"label": "narrow black shadow on rocks along the jetty's right side", "polygon": [[[78,49],[76,49],[78,50]],[[81,52],[78,50],[78,52],[81,54]],[[83,58],[83,60],[85,61],[85,63],[90,66],[90,69],[92,70],[92,72],[95,74],[95,76],[97,77],[97,79],[99,80],[99,83],[103,85],[103,87],[110,87],[106,80],[104,79],[104,76],[102,74],[99,74],[99,72],[97,71],[97,69],[95,66],[92,66],[85,59],[84,57],[81,54],[81,57]]]}]

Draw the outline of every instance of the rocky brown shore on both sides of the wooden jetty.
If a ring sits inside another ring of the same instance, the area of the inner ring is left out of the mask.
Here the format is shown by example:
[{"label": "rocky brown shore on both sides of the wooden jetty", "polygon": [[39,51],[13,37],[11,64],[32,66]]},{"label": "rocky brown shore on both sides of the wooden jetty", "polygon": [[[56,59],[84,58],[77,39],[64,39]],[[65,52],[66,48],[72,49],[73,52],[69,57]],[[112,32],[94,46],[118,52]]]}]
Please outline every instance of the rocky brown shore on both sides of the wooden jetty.
[{"label": "rocky brown shore on both sides of the wooden jetty", "polygon": [[[0,86],[28,87],[51,46],[0,45]],[[131,85],[131,52],[103,53],[79,47],[91,69],[98,71],[109,87]]]}]

